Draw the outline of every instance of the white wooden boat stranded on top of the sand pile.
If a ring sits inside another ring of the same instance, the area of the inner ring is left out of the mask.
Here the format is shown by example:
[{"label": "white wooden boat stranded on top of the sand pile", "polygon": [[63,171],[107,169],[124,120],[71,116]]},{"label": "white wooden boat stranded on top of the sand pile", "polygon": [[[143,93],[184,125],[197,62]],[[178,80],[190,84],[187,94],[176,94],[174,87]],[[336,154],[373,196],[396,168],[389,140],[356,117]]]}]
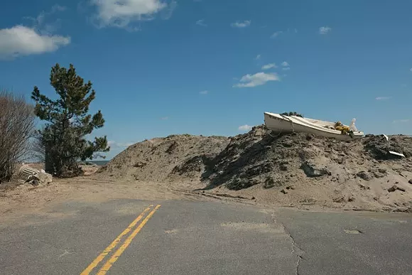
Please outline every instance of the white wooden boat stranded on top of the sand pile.
[{"label": "white wooden boat stranded on top of the sand pile", "polygon": [[[325,136],[339,140],[359,139],[364,136],[362,131],[353,131],[353,134],[342,134],[334,129],[335,122],[325,122],[318,119],[308,119],[307,117],[286,116],[283,114],[273,114],[265,112],[265,125],[272,131],[278,133],[304,132]],[[343,125],[347,126],[347,125]]]}]

